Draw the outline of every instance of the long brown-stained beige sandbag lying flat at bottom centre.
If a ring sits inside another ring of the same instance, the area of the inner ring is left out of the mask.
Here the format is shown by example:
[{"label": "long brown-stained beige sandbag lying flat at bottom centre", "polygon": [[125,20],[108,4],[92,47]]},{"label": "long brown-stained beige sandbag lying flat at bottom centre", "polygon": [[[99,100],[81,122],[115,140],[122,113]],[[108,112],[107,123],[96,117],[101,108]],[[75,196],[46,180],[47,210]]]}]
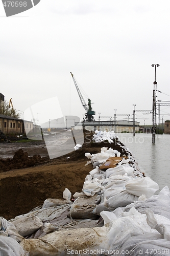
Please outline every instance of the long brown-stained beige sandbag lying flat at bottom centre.
[{"label": "long brown-stained beige sandbag lying flat at bottom centre", "polygon": [[31,256],[72,255],[71,251],[75,251],[77,255],[84,255],[85,252],[79,253],[79,251],[83,251],[83,249],[97,250],[100,249],[100,246],[104,248],[106,233],[107,228],[105,226],[60,230],[46,234],[40,239],[25,239],[20,245],[29,251]]}]

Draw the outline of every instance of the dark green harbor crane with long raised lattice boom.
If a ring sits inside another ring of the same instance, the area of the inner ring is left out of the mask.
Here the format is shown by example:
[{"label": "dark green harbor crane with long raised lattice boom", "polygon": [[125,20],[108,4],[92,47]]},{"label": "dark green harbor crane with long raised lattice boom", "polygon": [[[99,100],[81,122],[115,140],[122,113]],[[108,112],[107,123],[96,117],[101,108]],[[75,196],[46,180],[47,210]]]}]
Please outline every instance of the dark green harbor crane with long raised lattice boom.
[{"label": "dark green harbor crane with long raised lattice boom", "polygon": [[83,95],[81,94],[81,91],[77,85],[77,82],[74,78],[74,75],[70,72],[71,76],[72,76],[72,80],[74,81],[75,83],[75,86],[76,86],[76,89],[77,89],[77,92],[79,94],[79,97],[80,97],[80,100],[82,102],[82,105],[83,105],[83,108],[85,109],[86,113],[85,113],[85,118],[83,121],[95,121],[93,115],[95,115],[95,111],[92,111],[92,108],[91,108],[91,100],[88,99],[88,104],[86,104],[84,98],[83,98]]}]

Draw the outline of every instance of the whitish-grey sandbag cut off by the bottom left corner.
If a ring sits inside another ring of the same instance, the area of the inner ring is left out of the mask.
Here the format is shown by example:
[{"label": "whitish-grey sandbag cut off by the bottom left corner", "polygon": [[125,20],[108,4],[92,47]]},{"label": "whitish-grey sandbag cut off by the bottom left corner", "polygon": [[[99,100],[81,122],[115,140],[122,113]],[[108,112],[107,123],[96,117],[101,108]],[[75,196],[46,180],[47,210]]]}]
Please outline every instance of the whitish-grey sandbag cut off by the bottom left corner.
[{"label": "whitish-grey sandbag cut off by the bottom left corner", "polygon": [[29,256],[29,253],[13,238],[0,235],[0,255],[1,256]]}]

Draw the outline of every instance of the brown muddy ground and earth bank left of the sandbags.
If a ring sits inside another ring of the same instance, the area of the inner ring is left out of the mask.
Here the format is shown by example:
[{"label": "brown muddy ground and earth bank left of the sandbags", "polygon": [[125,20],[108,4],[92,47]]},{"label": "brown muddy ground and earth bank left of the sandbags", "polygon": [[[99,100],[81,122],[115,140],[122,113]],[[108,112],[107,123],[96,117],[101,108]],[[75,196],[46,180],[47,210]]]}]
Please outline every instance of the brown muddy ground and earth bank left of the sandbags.
[{"label": "brown muddy ground and earth bank left of the sandbags", "polygon": [[[72,195],[81,192],[86,175],[93,169],[85,153],[96,154],[101,147],[125,152],[116,143],[93,143],[85,138],[83,147],[50,160],[43,141],[0,144],[0,216],[7,220],[25,214],[47,198],[63,199],[67,187]],[[3,156],[13,157],[4,159]],[[69,158],[68,158],[69,157]]]}]

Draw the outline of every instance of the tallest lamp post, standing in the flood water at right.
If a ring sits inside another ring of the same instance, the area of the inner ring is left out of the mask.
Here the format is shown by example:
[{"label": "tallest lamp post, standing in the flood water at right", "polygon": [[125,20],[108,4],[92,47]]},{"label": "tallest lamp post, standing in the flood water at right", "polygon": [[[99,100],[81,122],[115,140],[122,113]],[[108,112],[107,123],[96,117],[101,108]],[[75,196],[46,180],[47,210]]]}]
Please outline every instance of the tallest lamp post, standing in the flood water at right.
[{"label": "tallest lamp post, standing in the flood water at right", "polygon": [[156,135],[156,67],[159,67],[159,64],[152,64],[152,67],[155,67],[155,81],[154,81],[154,90],[153,90],[153,104],[152,104],[152,143],[155,144],[155,135]]}]

